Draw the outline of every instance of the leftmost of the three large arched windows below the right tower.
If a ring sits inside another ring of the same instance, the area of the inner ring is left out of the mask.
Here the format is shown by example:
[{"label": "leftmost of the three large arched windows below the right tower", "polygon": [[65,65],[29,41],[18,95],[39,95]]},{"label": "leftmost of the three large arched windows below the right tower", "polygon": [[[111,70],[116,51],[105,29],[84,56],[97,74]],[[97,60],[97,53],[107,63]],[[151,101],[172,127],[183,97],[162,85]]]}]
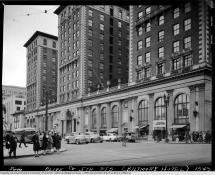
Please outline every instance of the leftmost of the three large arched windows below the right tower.
[{"label": "leftmost of the three large arched windows below the right tower", "polygon": [[142,100],[138,106],[138,124],[141,125],[148,122],[148,101]]}]

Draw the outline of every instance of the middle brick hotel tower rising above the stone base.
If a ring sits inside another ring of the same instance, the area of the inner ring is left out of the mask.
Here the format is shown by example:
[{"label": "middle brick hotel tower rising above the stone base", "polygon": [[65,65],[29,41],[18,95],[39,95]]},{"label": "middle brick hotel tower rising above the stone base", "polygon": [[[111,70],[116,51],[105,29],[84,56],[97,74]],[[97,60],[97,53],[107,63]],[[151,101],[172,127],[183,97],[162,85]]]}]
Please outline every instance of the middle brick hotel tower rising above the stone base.
[{"label": "middle brick hotel tower rising above the stone base", "polygon": [[[60,6],[59,103],[128,82],[129,12],[119,6]],[[120,80],[119,80],[120,79]]]}]

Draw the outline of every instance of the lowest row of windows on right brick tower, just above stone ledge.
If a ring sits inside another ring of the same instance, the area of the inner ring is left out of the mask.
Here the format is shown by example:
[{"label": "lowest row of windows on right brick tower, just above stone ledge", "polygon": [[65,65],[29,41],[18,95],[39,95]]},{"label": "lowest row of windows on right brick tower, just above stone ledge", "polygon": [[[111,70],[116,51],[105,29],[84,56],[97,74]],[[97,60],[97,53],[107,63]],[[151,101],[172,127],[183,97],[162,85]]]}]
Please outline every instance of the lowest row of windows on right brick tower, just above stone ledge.
[{"label": "lowest row of windows on right brick tower, just above stone ledge", "polygon": [[[193,58],[192,54],[185,55],[183,57],[175,58],[171,61],[171,69],[172,71],[181,70],[184,68],[188,68],[192,66]],[[142,80],[145,78],[151,77],[151,66],[146,66],[140,70],[137,70],[137,80]],[[165,73],[165,62],[158,62],[156,64],[157,75],[161,75]]]}]

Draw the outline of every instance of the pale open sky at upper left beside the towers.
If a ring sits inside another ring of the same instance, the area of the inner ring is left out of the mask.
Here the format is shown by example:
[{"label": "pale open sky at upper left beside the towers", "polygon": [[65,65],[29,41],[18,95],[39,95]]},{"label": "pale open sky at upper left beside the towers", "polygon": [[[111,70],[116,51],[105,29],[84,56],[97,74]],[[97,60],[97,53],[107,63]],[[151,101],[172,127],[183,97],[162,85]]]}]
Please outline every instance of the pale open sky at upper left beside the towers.
[{"label": "pale open sky at upper left beside the towers", "polygon": [[[58,6],[4,5],[2,84],[26,87],[26,48],[34,32],[58,35]],[[45,13],[47,11],[47,13]]]}]

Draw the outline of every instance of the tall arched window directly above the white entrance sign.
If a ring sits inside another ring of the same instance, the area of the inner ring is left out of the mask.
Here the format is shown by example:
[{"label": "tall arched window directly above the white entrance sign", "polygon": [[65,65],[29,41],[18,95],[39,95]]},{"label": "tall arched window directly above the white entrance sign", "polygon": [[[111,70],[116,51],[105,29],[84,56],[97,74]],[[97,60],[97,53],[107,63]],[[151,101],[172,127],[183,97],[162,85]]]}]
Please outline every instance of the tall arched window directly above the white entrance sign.
[{"label": "tall arched window directly above the white entrance sign", "polygon": [[155,120],[166,120],[164,98],[160,97],[155,102]]}]

